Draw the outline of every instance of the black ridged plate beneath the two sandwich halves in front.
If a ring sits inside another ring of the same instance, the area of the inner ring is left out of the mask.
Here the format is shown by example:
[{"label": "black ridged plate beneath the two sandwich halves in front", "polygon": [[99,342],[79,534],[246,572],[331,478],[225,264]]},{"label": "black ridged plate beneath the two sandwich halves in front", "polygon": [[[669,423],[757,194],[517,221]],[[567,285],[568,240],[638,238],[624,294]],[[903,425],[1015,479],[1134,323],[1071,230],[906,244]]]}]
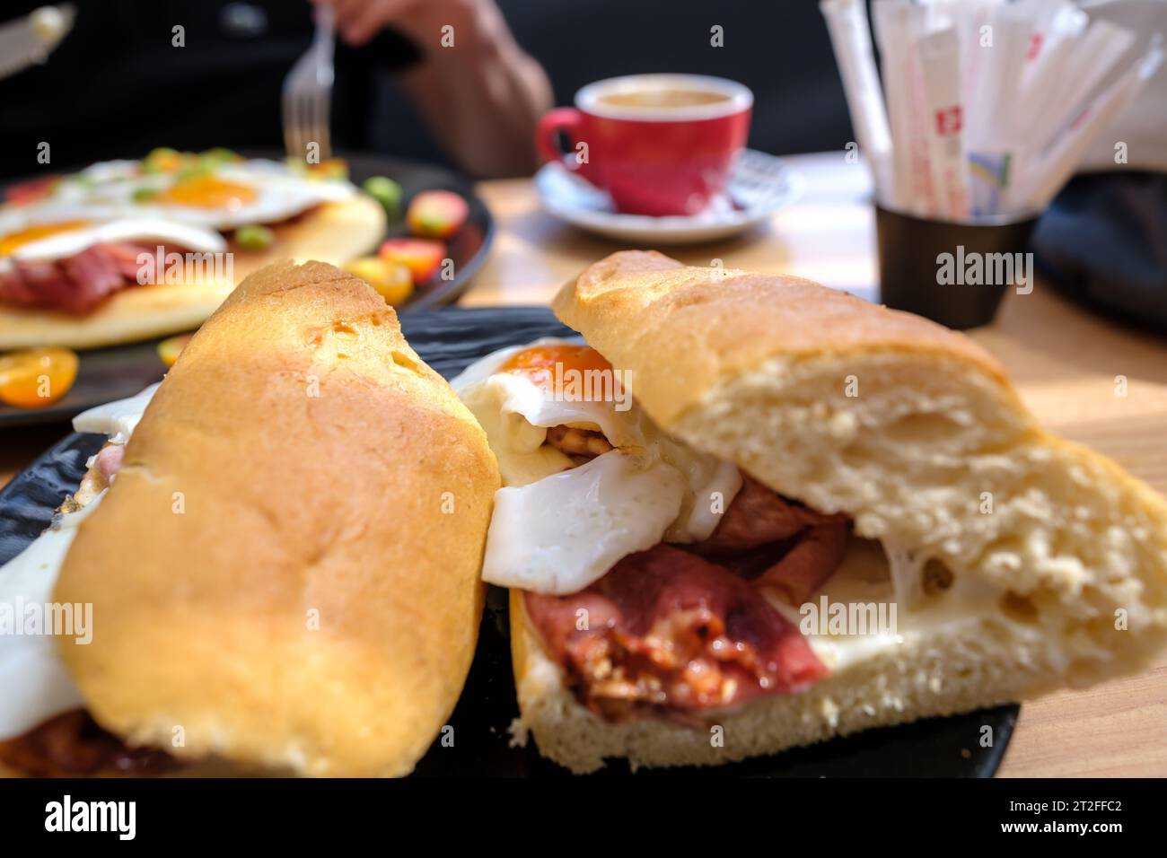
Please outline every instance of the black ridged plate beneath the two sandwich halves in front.
[{"label": "black ridged plate beneath the two sandwich halves in front", "polygon": [[[539,336],[571,336],[541,307],[447,309],[401,319],[410,343],[447,378],[494,349]],[[53,510],[81,481],[85,460],[104,438],[74,433],[57,444],[0,491],[0,563],[27,545]],[[543,760],[533,747],[510,747],[508,727],[518,716],[510,669],[505,591],[491,587],[478,650],[466,690],[450,719],[453,747],[435,742],[418,763],[419,776],[545,776],[566,770]],[[796,748],[769,758],[712,769],[642,770],[659,776],[958,776],[985,777],[1000,765],[1019,706],[998,706],[951,718],[930,718],[897,727],[871,730],[846,739]],[[980,746],[985,726],[993,746]],[[600,776],[627,775],[623,762]]]}]

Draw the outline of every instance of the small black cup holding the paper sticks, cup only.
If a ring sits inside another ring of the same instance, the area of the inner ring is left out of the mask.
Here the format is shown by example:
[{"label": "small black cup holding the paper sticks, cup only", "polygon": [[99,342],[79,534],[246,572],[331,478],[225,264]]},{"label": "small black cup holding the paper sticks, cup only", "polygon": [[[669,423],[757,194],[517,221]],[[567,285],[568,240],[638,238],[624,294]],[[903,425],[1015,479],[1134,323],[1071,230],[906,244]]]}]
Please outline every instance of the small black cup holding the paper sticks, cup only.
[{"label": "small black cup holding the paper sticks, cup only", "polygon": [[882,301],[950,328],[988,325],[1005,291],[1033,287],[1036,215],[932,221],[875,207]]}]

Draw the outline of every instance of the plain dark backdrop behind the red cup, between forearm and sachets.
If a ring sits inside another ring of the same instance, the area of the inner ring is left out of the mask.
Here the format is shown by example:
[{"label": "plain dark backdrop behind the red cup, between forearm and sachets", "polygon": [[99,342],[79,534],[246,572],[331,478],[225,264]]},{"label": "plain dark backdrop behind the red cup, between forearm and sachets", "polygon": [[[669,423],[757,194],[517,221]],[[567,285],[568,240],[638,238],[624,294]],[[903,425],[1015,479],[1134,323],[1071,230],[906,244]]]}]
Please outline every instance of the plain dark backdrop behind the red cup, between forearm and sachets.
[{"label": "plain dark backdrop behind the red cup, between forearm and sachets", "polygon": [[[502,0],[498,6],[546,70],[555,104],[571,104],[576,90],[605,77],[662,70],[714,75],[754,91],[750,148],[822,152],[854,139],[817,0]],[[725,29],[724,48],[710,44],[713,25]],[[392,146],[394,123],[407,123],[406,139],[417,145],[424,132],[407,105],[399,97],[386,104],[392,113],[377,123],[385,134],[377,142]]]}]

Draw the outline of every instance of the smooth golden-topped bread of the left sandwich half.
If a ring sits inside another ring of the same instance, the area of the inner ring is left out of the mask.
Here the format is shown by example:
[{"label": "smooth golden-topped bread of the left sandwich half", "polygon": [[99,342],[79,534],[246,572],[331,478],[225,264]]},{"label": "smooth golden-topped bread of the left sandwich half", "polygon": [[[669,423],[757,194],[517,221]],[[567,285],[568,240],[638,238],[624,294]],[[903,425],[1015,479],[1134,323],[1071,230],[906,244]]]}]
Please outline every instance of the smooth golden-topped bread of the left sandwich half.
[{"label": "smooth golden-topped bread of the left sandwich half", "polygon": [[95,718],[181,759],[408,773],[452,712],[498,487],[482,430],[368,285],[247,278],[170,370],[55,599]]}]

